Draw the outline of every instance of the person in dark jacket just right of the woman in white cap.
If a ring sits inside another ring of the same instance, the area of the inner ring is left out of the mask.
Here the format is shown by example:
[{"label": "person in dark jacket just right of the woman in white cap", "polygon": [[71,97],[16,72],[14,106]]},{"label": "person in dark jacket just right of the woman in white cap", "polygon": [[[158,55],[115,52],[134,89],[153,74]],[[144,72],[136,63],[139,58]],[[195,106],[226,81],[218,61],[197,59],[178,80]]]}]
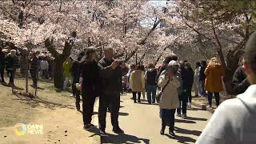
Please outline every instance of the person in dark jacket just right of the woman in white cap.
[{"label": "person in dark jacket just right of the woman in white cap", "polygon": [[[189,62],[185,63],[185,68],[186,68],[186,76],[185,76],[185,82],[183,82],[184,87],[184,92],[188,96],[188,108],[191,108],[191,102],[192,102],[192,86],[194,84],[194,70],[192,69],[191,65]],[[186,114],[184,115],[186,117]]]}]

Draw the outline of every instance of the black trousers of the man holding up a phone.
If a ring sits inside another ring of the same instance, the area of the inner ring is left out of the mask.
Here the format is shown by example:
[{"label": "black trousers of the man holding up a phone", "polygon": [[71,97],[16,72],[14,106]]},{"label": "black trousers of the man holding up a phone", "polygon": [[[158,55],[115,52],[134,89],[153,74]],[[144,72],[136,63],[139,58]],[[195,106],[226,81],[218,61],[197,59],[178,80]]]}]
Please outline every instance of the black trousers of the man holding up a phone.
[{"label": "black trousers of the man holding up a phone", "polygon": [[99,97],[98,122],[101,130],[106,129],[106,110],[110,106],[111,124],[114,129],[119,127],[118,113],[120,109],[120,94],[103,94]]}]

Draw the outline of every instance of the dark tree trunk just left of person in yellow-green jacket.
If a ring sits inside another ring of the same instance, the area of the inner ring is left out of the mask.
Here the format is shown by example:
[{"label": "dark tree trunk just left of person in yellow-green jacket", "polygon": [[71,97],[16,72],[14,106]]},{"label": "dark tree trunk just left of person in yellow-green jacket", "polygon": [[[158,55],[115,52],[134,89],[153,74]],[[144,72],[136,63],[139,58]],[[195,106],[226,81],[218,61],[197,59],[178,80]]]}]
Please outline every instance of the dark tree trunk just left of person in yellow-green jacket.
[{"label": "dark tree trunk just left of person in yellow-green jacket", "polygon": [[65,62],[66,58],[63,54],[60,54],[57,58],[55,58],[54,62],[54,86],[58,89],[63,88],[63,62]]}]

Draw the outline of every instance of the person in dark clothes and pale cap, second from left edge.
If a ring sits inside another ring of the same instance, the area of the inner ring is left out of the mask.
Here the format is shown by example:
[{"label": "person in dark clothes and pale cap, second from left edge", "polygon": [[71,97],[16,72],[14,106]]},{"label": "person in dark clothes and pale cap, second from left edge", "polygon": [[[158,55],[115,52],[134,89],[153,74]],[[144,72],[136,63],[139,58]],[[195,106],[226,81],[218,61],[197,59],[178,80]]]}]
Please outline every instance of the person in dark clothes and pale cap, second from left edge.
[{"label": "person in dark clothes and pale cap, second from left edge", "polygon": [[10,54],[6,56],[6,70],[7,74],[10,76],[9,86],[14,86],[14,76],[16,70],[18,69],[18,57],[16,55],[16,50],[10,50]]}]

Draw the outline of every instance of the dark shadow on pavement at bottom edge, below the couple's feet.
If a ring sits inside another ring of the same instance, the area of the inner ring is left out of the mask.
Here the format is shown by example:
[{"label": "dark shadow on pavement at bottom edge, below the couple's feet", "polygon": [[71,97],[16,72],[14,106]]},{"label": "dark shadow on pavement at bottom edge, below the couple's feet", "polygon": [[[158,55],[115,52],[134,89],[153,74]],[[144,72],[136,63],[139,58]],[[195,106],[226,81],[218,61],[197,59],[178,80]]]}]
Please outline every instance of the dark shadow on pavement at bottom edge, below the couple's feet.
[{"label": "dark shadow on pavement at bottom edge, below the couple's feet", "polygon": [[106,134],[101,137],[102,143],[146,143],[149,144],[150,140],[146,138],[138,138],[129,134]]}]

